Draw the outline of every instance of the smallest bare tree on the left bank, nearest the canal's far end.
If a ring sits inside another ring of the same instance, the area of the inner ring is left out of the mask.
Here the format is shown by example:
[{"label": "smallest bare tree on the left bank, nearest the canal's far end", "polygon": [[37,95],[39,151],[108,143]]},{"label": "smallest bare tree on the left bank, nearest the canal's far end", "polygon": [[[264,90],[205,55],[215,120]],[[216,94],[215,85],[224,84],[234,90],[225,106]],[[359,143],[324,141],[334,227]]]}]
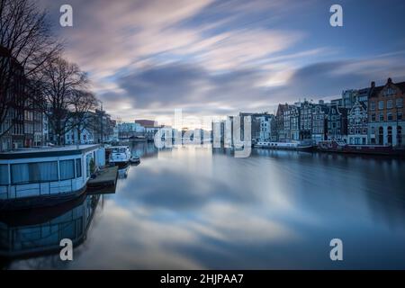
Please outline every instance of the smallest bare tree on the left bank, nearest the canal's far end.
[{"label": "smallest bare tree on the left bank, nearest the canal's far end", "polygon": [[94,119],[93,112],[97,105],[94,94],[84,90],[73,91],[72,97],[72,117],[70,121],[71,129],[76,129],[76,144],[80,144],[81,133],[85,129],[92,127]]}]

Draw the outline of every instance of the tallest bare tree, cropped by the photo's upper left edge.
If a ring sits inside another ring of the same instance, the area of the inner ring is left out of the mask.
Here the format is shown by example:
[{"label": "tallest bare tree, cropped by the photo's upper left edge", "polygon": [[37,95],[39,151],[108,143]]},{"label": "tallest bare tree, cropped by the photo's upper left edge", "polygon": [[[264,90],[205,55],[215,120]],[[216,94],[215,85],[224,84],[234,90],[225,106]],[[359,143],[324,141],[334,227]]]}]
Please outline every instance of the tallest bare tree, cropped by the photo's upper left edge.
[{"label": "tallest bare tree, cropped by the photo's upper left edge", "polygon": [[[35,1],[0,0],[0,126],[13,108],[30,96],[25,87],[21,88],[31,83],[24,79],[39,76],[60,49],[51,35],[47,14]],[[13,122],[6,121],[0,137],[13,127]]]}]

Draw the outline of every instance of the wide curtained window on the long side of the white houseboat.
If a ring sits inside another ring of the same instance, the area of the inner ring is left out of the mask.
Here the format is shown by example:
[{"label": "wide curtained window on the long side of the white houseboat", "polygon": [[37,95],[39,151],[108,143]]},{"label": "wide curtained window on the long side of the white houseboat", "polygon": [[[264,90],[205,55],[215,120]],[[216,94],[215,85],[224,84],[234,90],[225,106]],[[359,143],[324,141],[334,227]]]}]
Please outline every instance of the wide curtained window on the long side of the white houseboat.
[{"label": "wide curtained window on the long side of the white houseboat", "polygon": [[11,175],[13,184],[58,181],[58,162],[13,164]]}]

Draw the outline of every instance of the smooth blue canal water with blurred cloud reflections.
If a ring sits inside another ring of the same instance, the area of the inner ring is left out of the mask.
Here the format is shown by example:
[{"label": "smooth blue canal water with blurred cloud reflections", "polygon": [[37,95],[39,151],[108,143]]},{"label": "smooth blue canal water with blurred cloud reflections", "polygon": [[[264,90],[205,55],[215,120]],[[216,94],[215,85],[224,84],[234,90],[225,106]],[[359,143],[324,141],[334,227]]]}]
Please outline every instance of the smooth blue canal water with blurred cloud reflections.
[{"label": "smooth blue canal water with blurred cloud reflections", "polygon": [[[0,220],[10,269],[405,268],[405,162],[139,143],[116,193]],[[62,262],[61,238],[76,247]],[[332,238],[343,261],[331,261]]]}]

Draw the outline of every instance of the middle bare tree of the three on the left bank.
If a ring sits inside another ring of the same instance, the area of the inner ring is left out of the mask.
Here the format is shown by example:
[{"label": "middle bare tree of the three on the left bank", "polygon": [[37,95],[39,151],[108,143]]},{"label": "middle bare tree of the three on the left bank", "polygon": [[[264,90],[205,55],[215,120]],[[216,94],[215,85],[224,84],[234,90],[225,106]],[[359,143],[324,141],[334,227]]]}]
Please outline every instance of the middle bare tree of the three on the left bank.
[{"label": "middle bare tree of the three on the left bank", "polygon": [[50,127],[55,133],[56,142],[62,144],[63,135],[75,128],[75,103],[77,90],[85,90],[88,78],[76,64],[59,57],[49,59],[43,69],[41,100],[42,112],[48,117]]}]

